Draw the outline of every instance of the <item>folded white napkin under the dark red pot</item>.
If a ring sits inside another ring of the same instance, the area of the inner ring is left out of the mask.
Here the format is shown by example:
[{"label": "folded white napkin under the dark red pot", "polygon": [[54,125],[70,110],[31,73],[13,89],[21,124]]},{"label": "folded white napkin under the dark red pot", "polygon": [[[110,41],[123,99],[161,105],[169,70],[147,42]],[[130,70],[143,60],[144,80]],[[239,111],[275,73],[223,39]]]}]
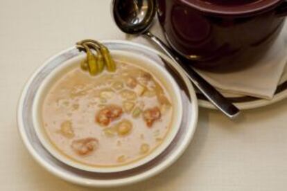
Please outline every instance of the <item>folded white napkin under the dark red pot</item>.
[{"label": "folded white napkin under the dark red pot", "polygon": [[[151,31],[166,42],[158,21],[155,21]],[[132,41],[153,46],[152,43],[143,38],[133,38]],[[159,48],[157,49],[161,51]],[[274,96],[286,62],[287,24],[284,24],[284,28],[275,43],[272,44],[272,47],[264,53],[255,64],[245,69],[227,73],[196,70],[205,80],[223,93],[238,94],[238,96],[253,96],[270,100]]]}]

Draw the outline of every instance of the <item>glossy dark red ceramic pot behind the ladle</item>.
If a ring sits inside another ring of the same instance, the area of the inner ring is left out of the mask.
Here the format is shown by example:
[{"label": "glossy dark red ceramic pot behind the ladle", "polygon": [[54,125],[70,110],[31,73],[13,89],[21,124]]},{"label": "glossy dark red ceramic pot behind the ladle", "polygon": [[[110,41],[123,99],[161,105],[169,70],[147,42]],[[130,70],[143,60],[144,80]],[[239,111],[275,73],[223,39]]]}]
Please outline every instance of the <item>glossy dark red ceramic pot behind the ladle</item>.
[{"label": "glossy dark red ceramic pot behind the ladle", "polygon": [[201,57],[189,63],[205,69],[242,64],[244,57],[254,61],[287,15],[282,0],[157,0],[157,5],[168,43],[190,60]]}]

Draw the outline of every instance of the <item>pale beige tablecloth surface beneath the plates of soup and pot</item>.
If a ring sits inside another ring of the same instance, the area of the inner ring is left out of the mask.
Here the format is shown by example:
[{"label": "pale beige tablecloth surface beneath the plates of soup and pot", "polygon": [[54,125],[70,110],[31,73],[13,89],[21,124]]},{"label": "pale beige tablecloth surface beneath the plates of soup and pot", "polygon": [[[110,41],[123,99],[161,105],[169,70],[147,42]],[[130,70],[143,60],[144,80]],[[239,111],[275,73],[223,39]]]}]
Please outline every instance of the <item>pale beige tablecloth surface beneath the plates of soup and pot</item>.
[{"label": "pale beige tablecloth surface beneath the plates of soup and pot", "polygon": [[[16,122],[28,77],[85,38],[125,39],[112,23],[110,1],[0,0],[0,190],[97,190],[40,167]],[[195,136],[174,165],[147,181],[107,190],[287,190],[287,100],[244,111],[234,121],[200,109]]]}]

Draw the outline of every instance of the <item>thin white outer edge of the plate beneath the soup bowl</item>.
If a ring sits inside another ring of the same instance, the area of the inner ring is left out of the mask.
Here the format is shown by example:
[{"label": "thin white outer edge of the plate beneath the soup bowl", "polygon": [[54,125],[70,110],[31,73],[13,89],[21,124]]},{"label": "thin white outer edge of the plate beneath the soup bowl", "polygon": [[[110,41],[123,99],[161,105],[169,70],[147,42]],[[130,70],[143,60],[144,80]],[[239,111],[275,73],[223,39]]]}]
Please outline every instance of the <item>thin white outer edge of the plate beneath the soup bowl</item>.
[{"label": "thin white outer edge of the plate beneath the soup bowl", "polygon": [[[125,45],[129,45],[129,46],[134,46],[137,48],[143,48],[146,51],[149,51],[150,53],[160,55],[162,58],[164,58],[164,60],[166,60],[168,62],[171,62],[171,63],[173,62],[170,58],[168,58],[163,53],[160,53],[159,51],[157,51],[153,48],[150,48],[148,46],[142,45],[142,44],[137,44],[137,43],[129,42],[129,41],[125,41],[125,40],[102,40],[101,42],[125,44]],[[72,49],[75,49],[75,47],[68,48],[68,49],[62,51],[62,53],[64,53],[65,51],[69,51],[69,50],[71,51]],[[55,56],[50,57],[49,60],[51,61],[53,59],[55,59]],[[48,172],[51,172],[51,174],[54,174],[55,176],[58,176],[60,179],[63,179],[63,180],[68,181],[70,183],[75,183],[78,185],[83,185],[83,186],[88,186],[88,187],[107,188],[107,187],[116,187],[116,186],[121,186],[121,185],[128,185],[131,183],[137,183],[139,181],[143,181],[145,179],[150,178],[151,176],[155,176],[156,174],[159,174],[159,172],[162,172],[167,167],[172,165],[177,160],[177,158],[179,158],[183,154],[184,150],[186,149],[186,147],[188,147],[189,143],[191,142],[191,139],[193,138],[193,134],[195,132],[196,125],[198,122],[198,100],[195,96],[195,90],[193,89],[193,85],[191,84],[189,79],[186,77],[186,75],[184,75],[184,71],[182,71],[182,69],[179,66],[175,66],[175,68],[180,73],[180,75],[182,75],[182,78],[186,82],[186,87],[190,93],[190,97],[192,100],[191,111],[193,112],[193,115],[191,116],[191,124],[190,124],[189,128],[187,128],[187,133],[186,133],[186,136],[184,137],[184,139],[182,139],[182,143],[179,145],[179,147],[177,147],[177,149],[175,149],[173,154],[171,154],[171,156],[166,158],[162,163],[159,163],[158,165],[151,168],[147,172],[143,172],[141,174],[137,174],[134,176],[129,176],[129,177],[123,178],[123,179],[116,179],[116,180],[109,180],[109,181],[93,179],[91,181],[90,179],[85,178],[85,177],[76,177],[76,176],[73,176],[73,174],[69,174],[68,172],[63,172],[57,166],[51,165],[51,163],[47,163],[44,160],[44,158],[42,158],[42,156],[40,154],[38,154],[37,150],[33,147],[33,145],[31,144],[31,142],[30,142],[30,140],[26,134],[26,129],[24,127],[24,121],[22,118],[22,114],[23,114],[22,111],[23,111],[23,107],[24,107],[24,101],[26,98],[26,93],[28,92],[28,89],[29,89],[31,83],[33,82],[34,78],[36,77],[37,73],[40,73],[40,71],[42,71],[42,69],[44,69],[44,66],[40,66],[33,73],[33,75],[31,75],[31,77],[28,78],[28,80],[24,86],[24,89],[21,93],[21,96],[18,100],[18,106],[17,106],[18,131],[19,131],[19,134],[21,136],[21,139],[22,139],[24,145],[26,146],[26,149],[28,149],[28,152],[30,152],[30,154],[33,156],[35,161],[37,161],[37,163],[39,163],[42,167],[44,167],[44,169],[46,169]]]}]

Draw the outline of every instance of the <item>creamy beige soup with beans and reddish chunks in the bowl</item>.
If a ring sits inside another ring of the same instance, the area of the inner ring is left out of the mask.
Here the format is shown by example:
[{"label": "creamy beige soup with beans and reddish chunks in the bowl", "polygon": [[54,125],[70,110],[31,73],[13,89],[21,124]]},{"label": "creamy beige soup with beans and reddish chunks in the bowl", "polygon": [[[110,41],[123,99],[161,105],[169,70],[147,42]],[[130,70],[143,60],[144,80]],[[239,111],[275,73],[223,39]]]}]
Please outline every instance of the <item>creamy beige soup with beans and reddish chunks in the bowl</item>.
[{"label": "creamy beige soup with beans and reddish chunks in the bowl", "polygon": [[125,165],[156,149],[171,129],[173,102],[161,79],[133,64],[95,77],[70,69],[49,89],[42,123],[51,143],[73,161]]}]

